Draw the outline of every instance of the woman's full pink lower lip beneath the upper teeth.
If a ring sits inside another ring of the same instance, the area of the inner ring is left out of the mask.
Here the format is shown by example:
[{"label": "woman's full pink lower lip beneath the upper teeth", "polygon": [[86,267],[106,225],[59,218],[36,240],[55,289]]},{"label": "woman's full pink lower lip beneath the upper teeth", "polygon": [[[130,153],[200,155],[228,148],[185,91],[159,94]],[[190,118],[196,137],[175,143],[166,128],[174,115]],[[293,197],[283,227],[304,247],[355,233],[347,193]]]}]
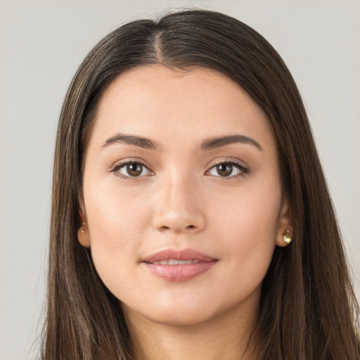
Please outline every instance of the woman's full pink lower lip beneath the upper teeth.
[{"label": "woman's full pink lower lip beneath the upper teeth", "polygon": [[197,264],[176,264],[176,265],[161,265],[144,262],[148,270],[154,275],[164,278],[168,281],[188,281],[196,276],[204,274],[206,271],[212,269],[217,262],[198,262]]}]

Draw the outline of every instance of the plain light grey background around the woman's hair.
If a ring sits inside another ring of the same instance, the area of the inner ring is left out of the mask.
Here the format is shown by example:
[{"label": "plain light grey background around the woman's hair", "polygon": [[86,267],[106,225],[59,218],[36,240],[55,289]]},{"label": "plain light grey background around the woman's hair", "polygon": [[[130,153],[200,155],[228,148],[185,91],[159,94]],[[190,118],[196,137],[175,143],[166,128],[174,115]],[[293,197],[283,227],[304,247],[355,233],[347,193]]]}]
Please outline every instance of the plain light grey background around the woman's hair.
[{"label": "plain light grey background around the woman's hair", "polygon": [[0,360],[34,359],[38,348],[53,148],[72,75],[117,25],[179,6],[243,20],[274,45],[293,72],[359,296],[359,1],[0,0]]}]

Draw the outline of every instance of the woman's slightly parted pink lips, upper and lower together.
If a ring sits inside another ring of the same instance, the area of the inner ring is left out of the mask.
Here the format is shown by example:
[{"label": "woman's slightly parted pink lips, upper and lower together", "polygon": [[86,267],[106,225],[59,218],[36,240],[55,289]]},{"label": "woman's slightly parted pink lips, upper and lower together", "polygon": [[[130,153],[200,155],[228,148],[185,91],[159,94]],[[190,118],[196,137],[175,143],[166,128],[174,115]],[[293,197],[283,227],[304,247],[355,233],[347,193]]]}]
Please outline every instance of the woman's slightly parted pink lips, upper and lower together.
[{"label": "woman's slightly parted pink lips, upper and lower together", "polygon": [[146,257],[142,264],[152,274],[167,281],[188,281],[212,269],[217,261],[192,249],[167,249]]}]

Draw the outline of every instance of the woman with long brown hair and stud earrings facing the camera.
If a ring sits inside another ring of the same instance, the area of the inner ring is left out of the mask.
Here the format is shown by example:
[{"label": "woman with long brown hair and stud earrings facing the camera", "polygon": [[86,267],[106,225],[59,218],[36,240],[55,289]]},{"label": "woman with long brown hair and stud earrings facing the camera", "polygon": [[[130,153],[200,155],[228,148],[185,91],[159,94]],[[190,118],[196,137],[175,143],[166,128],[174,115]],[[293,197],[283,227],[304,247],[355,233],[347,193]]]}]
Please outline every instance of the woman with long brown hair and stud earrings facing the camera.
[{"label": "woman with long brown hair and stud earrings facing the camera", "polygon": [[200,10],[100,41],[60,115],[43,359],[359,359],[357,311],[271,45]]}]

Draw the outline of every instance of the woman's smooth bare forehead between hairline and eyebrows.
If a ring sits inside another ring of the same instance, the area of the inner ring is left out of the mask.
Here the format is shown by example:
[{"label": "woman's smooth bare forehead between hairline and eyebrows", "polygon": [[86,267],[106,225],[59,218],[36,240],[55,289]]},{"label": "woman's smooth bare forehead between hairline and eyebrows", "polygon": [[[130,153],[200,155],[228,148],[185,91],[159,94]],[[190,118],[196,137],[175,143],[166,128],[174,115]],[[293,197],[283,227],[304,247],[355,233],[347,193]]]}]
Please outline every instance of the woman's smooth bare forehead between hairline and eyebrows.
[{"label": "woman's smooth bare forehead between hairline and eyebrows", "polygon": [[128,70],[105,90],[94,133],[104,141],[119,131],[184,145],[239,131],[273,141],[266,116],[232,79],[207,68],[161,65]]}]

